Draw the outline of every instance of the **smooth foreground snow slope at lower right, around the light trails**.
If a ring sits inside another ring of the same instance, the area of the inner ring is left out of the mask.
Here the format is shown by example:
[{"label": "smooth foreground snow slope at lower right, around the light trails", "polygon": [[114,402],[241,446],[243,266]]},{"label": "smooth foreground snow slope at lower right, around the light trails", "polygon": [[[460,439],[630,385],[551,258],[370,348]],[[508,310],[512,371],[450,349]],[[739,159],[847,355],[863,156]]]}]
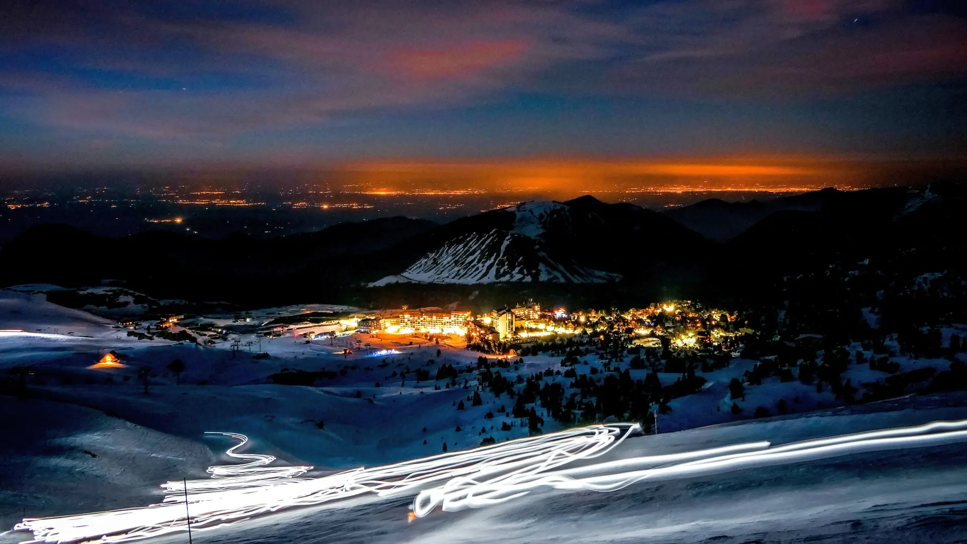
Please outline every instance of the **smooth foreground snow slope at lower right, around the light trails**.
[{"label": "smooth foreground snow slope at lower right, around the light trails", "polygon": [[[599,458],[804,439],[962,419],[960,397],[858,407],[630,438]],[[882,409],[878,409],[882,408]],[[962,438],[962,437],[961,437]],[[258,452],[257,449],[251,449]],[[808,460],[692,472],[597,493],[534,490],[503,503],[407,520],[411,496],[332,503],[197,532],[199,542],[956,542],[967,522],[962,443],[835,451]],[[13,536],[13,535],[11,535]],[[0,542],[6,541],[0,535]],[[177,537],[165,541],[182,541]]]}]

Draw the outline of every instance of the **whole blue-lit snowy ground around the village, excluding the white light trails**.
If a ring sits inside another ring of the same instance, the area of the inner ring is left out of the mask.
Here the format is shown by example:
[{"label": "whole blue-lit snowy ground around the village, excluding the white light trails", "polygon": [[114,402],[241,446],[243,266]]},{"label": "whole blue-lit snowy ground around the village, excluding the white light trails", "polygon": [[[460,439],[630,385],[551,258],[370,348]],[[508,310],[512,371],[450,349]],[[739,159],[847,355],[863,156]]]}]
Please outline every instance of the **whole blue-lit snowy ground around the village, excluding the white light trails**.
[{"label": "whole blue-lit snowy ground around the village, excluding the white light trails", "polygon": [[[259,315],[303,310],[271,309]],[[411,346],[406,339],[394,342],[362,335],[360,339],[374,347],[398,351],[373,357],[360,349],[341,354],[344,347],[355,348],[352,336],[332,345],[328,339],[307,343],[292,336],[263,338],[258,346],[253,335],[242,335],[243,342],[253,345],[238,351],[229,349],[228,342],[196,346],[136,340],[109,319],[11,291],[0,291],[0,329],[16,329],[0,333],[0,376],[6,378],[11,369],[26,366],[33,373],[25,378],[24,399],[0,395],[0,432],[5,438],[0,440],[0,527],[13,527],[24,516],[160,501],[161,482],[201,478],[208,466],[229,461],[221,453],[229,444],[206,437],[206,431],[244,433],[251,439],[250,452],[275,455],[279,464],[323,470],[424,457],[439,453],[445,443],[454,451],[476,447],[488,437],[501,442],[528,435],[526,420],[499,409],[513,407],[506,395],[496,398],[484,391],[483,404],[472,406],[476,374],[460,374],[455,387],[434,379],[441,364],[462,369],[476,363],[479,353],[458,344],[437,346],[414,339]],[[87,368],[108,350],[122,355],[125,367]],[[255,358],[259,351],[269,356]],[[179,378],[166,368],[176,358],[185,363]],[[575,367],[578,375],[600,366],[593,355],[582,358],[587,364]],[[899,362],[904,372],[933,364]],[[763,439],[781,444],[967,418],[967,403],[958,393],[830,408],[836,400],[828,390],[817,393],[810,385],[778,378],[747,386],[746,400],[737,403],[743,414],[733,415],[728,383],[752,364],[733,359],[729,368],[699,373],[709,380],[705,388],[670,403],[671,411],[659,416],[661,434],[630,438],[615,455],[657,455]],[[142,367],[151,368],[147,395],[137,376]],[[429,371],[428,380],[417,382],[415,372],[400,376],[407,368],[421,367]],[[283,369],[325,369],[335,376],[320,379],[315,387],[270,383],[268,377]],[[528,356],[516,370],[512,366],[501,372],[513,379],[546,369],[562,370],[560,358]],[[640,379],[645,372],[634,370],[630,375]],[[843,378],[860,383],[879,378],[878,374],[882,373],[868,366],[851,365]],[[666,384],[677,375],[659,377]],[[555,376],[544,380],[565,385],[571,381]],[[796,413],[747,420],[755,407],[775,407],[780,398]],[[465,409],[456,408],[460,401]],[[825,408],[817,410],[817,405]],[[561,428],[549,417],[544,420],[545,433]],[[504,422],[513,424],[510,431],[500,430]],[[690,430],[675,432],[683,429]],[[195,539],[955,541],[958,529],[967,524],[965,451],[963,444],[953,444],[866,452],[639,483],[607,494],[542,491],[491,508],[434,511],[413,523],[407,523],[412,498],[370,501],[354,508],[280,513],[199,533]],[[6,533],[0,541],[28,536]]]}]

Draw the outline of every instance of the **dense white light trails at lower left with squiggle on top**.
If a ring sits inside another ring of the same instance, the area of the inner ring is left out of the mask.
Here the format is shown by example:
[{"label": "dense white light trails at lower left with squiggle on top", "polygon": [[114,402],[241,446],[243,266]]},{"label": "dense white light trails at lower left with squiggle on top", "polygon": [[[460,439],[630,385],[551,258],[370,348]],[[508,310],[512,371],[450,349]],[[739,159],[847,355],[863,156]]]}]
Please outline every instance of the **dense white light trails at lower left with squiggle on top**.
[{"label": "dense white light trails at lower left with squiggle on top", "polygon": [[[241,443],[226,453],[249,463],[212,467],[209,468],[212,479],[188,482],[191,530],[217,529],[283,509],[364,495],[415,496],[420,490],[455,476],[558,468],[575,460],[599,457],[639,431],[637,424],[592,425],[317,478],[293,477],[310,467],[282,468],[288,472],[279,475],[279,468],[264,467],[274,457],[235,453],[248,437],[215,433],[240,440]],[[218,477],[214,477],[216,474]],[[30,542],[60,543],[126,542],[187,530],[186,485],[169,481],[161,487],[169,494],[161,504],[73,516],[25,518],[14,529],[32,531],[34,539]]]}]

